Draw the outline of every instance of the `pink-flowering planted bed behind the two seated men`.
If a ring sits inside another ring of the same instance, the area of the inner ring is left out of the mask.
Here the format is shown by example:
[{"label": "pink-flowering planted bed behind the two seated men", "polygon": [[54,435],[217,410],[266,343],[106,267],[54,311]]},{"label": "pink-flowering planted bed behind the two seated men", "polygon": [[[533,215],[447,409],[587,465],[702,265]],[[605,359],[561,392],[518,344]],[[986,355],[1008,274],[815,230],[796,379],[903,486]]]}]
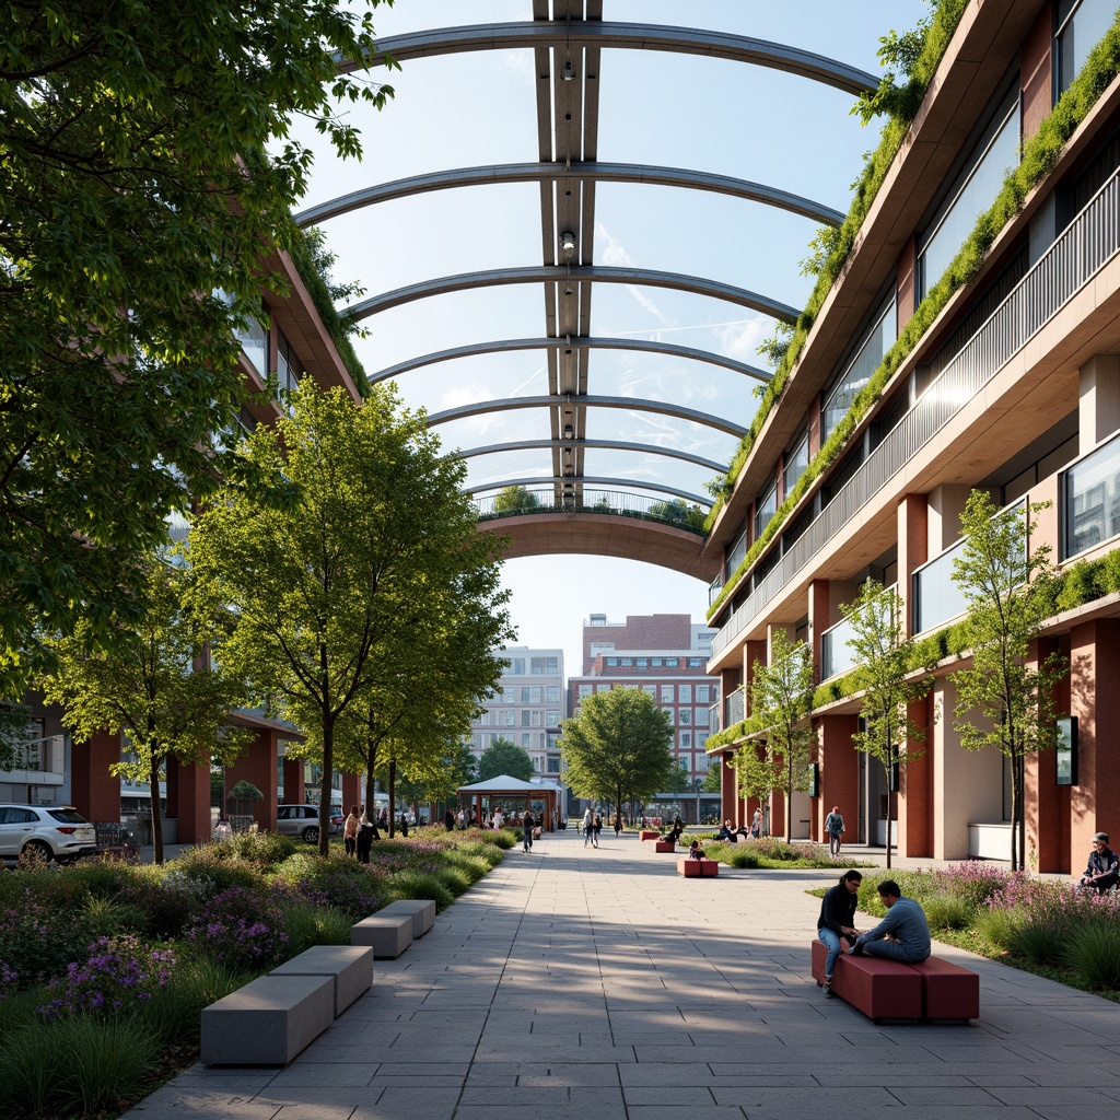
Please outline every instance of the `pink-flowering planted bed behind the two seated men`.
[{"label": "pink-flowering planted bed behind the two seated men", "polygon": [[865,875],[861,911],[886,913],[876,889],[886,878],[922,904],[937,941],[1120,1001],[1120,894],[1079,892],[1070,881],[973,860]]}]

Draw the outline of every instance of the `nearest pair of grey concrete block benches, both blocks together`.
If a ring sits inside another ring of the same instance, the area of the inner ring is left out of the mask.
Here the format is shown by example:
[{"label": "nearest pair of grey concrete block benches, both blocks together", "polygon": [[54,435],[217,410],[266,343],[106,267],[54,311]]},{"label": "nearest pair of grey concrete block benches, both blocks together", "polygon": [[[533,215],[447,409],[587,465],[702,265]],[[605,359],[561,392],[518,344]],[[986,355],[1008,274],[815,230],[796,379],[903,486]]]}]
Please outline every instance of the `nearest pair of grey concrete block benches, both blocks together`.
[{"label": "nearest pair of grey concrete block benches, both blocks together", "polygon": [[287,1065],[373,983],[373,951],[314,945],[203,1008],[204,1065]]}]

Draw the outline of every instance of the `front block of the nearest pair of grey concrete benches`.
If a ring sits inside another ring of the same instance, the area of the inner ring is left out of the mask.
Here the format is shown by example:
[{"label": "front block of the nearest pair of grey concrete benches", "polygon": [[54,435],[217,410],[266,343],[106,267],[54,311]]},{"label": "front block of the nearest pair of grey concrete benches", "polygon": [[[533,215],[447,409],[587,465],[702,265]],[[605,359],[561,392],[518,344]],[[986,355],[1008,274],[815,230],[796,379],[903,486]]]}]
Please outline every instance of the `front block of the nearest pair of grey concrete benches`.
[{"label": "front block of the nearest pair of grey concrete benches", "polygon": [[264,976],[202,1012],[204,1065],[287,1065],[335,1019],[329,976]]}]

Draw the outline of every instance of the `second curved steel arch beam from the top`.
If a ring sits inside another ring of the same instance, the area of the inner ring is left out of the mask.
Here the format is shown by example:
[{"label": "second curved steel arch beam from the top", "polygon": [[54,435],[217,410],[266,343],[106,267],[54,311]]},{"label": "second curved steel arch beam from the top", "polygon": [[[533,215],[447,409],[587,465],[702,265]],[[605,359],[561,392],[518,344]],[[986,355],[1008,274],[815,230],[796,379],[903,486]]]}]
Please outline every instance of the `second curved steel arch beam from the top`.
[{"label": "second curved steel arch beam from the top", "polygon": [[333,217],[377,203],[392,202],[430,190],[450,190],[457,187],[496,186],[505,183],[545,183],[549,179],[587,179],[595,183],[640,183],[659,187],[688,187],[694,190],[712,190],[734,198],[776,206],[778,209],[800,214],[822,225],[839,225],[843,214],[814,203],[810,198],[769,187],[749,179],[737,179],[730,175],[715,175],[710,171],[692,171],[683,167],[647,167],[642,164],[495,164],[489,167],[460,167],[448,171],[429,171],[412,175],[407,179],[379,183],[363,187],[348,195],[340,195],[329,202],[311,206],[296,215],[301,226],[316,225]]}]

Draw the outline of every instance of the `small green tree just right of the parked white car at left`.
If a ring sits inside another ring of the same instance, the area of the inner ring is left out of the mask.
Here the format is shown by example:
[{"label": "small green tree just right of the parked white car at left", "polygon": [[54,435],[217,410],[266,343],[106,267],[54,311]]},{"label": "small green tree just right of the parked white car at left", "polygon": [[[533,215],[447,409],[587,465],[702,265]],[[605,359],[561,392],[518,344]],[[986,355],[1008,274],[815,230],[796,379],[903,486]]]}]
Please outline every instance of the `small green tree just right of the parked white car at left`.
[{"label": "small green tree just right of the parked white car at left", "polygon": [[[57,671],[46,679],[48,703],[63,708],[75,738],[123,731],[134,758],[112,766],[116,775],[151,788],[155,861],[164,861],[159,783],[168,758],[209,765],[232,762],[249,739],[230,725],[230,712],[246,702],[245,679],[232,666],[209,662],[206,644],[215,619],[189,594],[190,573],[149,561],[140,625],[103,648],[93,623],[78,623],[55,645]],[[82,747],[75,747],[81,750]]]}]

